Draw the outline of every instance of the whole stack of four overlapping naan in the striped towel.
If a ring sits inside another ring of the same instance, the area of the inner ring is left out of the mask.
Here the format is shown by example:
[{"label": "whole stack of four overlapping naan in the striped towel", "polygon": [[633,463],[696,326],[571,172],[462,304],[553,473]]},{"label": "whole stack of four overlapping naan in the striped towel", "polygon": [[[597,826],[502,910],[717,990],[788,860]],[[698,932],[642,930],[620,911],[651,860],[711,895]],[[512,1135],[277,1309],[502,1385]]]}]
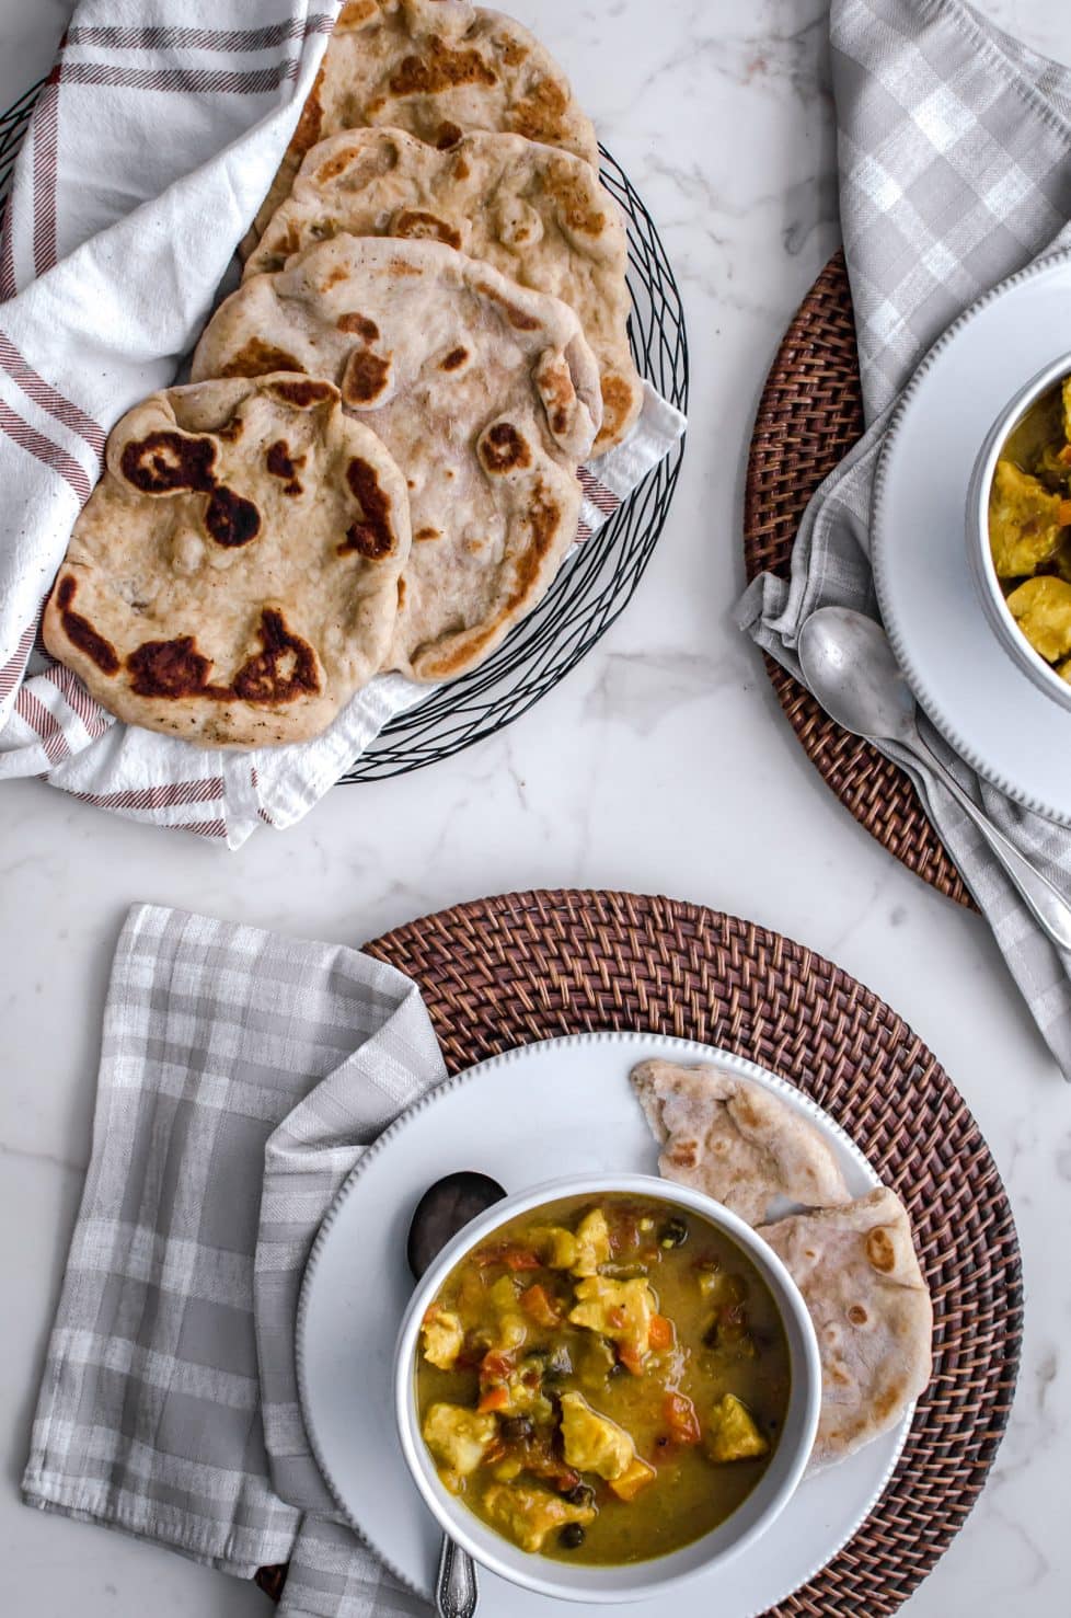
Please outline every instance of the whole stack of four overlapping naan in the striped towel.
[{"label": "whole stack of four overlapping naan in the striped towel", "polygon": [[380,670],[474,668],[576,536],[642,390],[591,121],[469,0],[351,0],[191,383],[108,440],[45,608],[120,718],[319,735]]}]

